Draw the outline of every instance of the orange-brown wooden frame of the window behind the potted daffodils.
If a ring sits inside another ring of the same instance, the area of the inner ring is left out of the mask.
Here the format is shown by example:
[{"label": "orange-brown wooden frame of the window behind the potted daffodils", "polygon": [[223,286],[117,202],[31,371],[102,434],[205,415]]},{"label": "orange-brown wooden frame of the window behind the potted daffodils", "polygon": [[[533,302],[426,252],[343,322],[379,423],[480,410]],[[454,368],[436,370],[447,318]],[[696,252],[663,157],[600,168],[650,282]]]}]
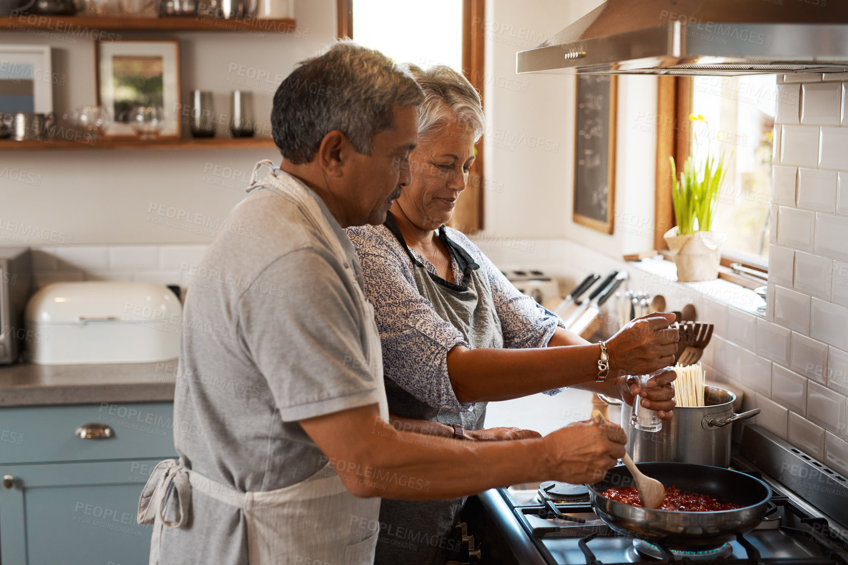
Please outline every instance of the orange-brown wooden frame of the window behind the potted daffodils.
[{"label": "orange-brown wooden frame of the window behind the potted daffodils", "polygon": [[[667,230],[671,230],[676,222],[672,204],[672,168],[668,158],[672,156],[675,163],[683,163],[689,158],[692,147],[689,114],[692,113],[693,84],[694,80],[689,76],[658,77],[654,248],[669,260],[672,260],[671,253],[668,252],[668,246],[662,239],[662,235]],[[767,259],[755,258],[745,253],[722,248],[718,278],[751,289],[766,284],[764,280],[734,271],[731,266],[735,263],[768,274]]]}]

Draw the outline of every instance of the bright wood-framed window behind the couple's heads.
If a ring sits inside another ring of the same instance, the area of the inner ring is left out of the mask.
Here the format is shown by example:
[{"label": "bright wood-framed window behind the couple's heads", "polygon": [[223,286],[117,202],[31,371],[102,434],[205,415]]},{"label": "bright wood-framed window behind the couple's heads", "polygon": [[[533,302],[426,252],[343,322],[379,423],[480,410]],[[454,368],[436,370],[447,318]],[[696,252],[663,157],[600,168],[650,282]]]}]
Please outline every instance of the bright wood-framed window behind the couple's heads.
[{"label": "bright wood-framed window behind the couple's heads", "polygon": [[[398,63],[446,64],[460,71],[483,96],[485,0],[338,0],[338,36],[379,49]],[[483,101],[485,109],[485,101]],[[450,224],[473,234],[483,229],[483,141],[466,191]]]}]

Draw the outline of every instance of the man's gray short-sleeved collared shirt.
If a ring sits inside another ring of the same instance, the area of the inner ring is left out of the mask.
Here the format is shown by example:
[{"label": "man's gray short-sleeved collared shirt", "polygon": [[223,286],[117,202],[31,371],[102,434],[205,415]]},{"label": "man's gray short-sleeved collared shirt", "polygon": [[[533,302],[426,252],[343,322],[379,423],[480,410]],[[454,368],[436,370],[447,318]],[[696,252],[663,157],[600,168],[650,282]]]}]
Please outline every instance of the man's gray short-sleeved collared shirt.
[{"label": "man's gray short-sleeved collared shirt", "polygon": [[[361,285],[354,246],[310,193]],[[243,491],[293,485],[326,462],[298,420],[378,402],[344,269],[287,198],[258,189],[233,208],[183,281],[174,438],[187,468]],[[246,548],[241,511],[194,490],[161,562],[247,563]]]}]

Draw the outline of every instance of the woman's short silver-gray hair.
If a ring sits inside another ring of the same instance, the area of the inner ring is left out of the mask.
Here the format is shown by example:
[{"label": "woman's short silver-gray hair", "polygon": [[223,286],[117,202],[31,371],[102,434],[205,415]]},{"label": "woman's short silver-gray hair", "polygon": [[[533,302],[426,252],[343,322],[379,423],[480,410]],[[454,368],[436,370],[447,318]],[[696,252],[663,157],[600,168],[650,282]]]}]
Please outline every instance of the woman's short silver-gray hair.
[{"label": "woman's short silver-gray hair", "polygon": [[444,64],[426,70],[406,66],[424,91],[424,102],[418,107],[418,141],[426,141],[452,123],[470,127],[474,141],[480,139],[486,118],[480,95],[466,77]]}]

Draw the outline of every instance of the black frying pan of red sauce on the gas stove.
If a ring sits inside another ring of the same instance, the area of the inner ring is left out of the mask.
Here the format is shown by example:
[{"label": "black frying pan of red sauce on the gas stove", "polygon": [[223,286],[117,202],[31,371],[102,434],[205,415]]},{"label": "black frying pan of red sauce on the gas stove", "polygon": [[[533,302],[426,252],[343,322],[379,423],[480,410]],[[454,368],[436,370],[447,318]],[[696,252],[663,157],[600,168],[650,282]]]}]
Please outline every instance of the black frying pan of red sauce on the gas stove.
[{"label": "black frying pan of red sauce on the gas stove", "polygon": [[634,507],[601,496],[612,487],[635,486],[624,465],[611,468],[599,483],[588,485],[595,512],[611,529],[668,546],[717,547],[735,540],[737,533],[745,534],[762,522],[772,497],[772,489],[762,480],[726,468],[691,463],[637,463],[636,467],[663,486],[677,485],[683,492],[742,506],[718,512],[677,512]]}]

